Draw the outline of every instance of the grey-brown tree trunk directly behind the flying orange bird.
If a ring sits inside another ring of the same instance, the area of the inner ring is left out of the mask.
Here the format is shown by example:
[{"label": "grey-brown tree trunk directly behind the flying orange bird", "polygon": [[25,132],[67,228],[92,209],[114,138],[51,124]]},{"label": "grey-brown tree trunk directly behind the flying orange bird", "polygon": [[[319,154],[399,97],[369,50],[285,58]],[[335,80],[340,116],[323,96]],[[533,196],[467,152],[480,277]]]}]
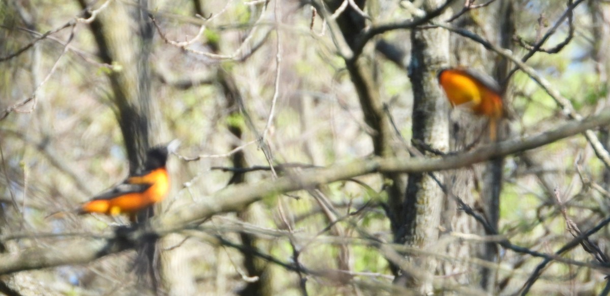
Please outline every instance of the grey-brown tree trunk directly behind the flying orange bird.
[{"label": "grey-brown tree trunk directly behind the flying orange bird", "polygon": [[[454,26],[463,27],[470,30],[490,42],[499,44],[503,48],[511,48],[514,33],[513,1],[497,1],[484,10],[471,11],[465,13],[453,23]],[[476,13],[476,16],[473,16]],[[499,39],[494,38],[499,36]],[[505,60],[498,60],[495,55],[487,51],[481,44],[475,43],[458,35],[452,35],[451,66],[467,66],[477,69],[493,76],[495,80],[502,83],[506,79],[509,66]],[[495,62],[498,61],[498,62]],[[509,105],[506,85],[501,85],[504,90],[504,105]],[[486,137],[487,125],[489,120],[464,111],[463,108],[456,108],[451,114],[451,150],[463,150],[465,147],[484,144],[489,142]],[[498,140],[503,139],[506,130],[505,120],[498,122]],[[461,198],[468,205],[481,211],[489,224],[497,230],[498,220],[500,219],[500,192],[503,173],[503,158],[496,158],[486,164],[479,164],[468,169],[462,169],[451,174],[451,184],[448,188],[453,194]],[[480,188],[477,186],[481,184]],[[476,193],[478,192],[478,194]],[[448,202],[453,202],[448,200]],[[448,229],[458,233],[478,233],[482,236],[489,234],[483,231],[472,217],[462,212],[455,212],[454,217],[448,219]],[[448,245],[448,253],[451,256],[472,256],[490,262],[498,261],[498,249],[495,242],[481,245],[464,244],[463,242],[453,241]],[[444,263],[443,273],[456,274],[454,280],[458,283],[479,283],[483,289],[489,293],[495,293],[495,270],[480,267],[478,272],[467,272],[470,270],[464,264]]]}]

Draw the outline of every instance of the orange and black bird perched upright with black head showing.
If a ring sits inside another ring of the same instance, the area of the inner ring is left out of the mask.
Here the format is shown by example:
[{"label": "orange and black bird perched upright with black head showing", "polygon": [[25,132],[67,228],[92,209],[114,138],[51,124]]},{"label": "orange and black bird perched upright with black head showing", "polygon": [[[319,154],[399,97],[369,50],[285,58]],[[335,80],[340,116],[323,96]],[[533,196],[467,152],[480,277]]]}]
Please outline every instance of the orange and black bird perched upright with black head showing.
[{"label": "orange and black bird perched upright with black head showing", "polygon": [[143,171],[130,175],[107,191],[101,192],[79,208],[79,214],[101,213],[116,216],[129,214],[135,222],[138,211],[160,202],[170,191],[170,176],[165,168],[168,154],[178,146],[172,141],[167,146],[153,147],[146,152]]}]

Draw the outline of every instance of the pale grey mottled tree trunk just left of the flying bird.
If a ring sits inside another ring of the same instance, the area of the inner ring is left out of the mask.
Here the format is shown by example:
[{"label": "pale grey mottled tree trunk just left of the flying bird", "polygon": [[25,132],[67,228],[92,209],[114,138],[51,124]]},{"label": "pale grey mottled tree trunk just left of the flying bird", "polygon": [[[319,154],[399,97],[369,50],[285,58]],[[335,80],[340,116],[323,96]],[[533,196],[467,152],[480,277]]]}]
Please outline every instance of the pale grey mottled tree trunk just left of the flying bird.
[{"label": "pale grey mottled tree trunk just left of the flying bird", "polygon": [[[431,11],[442,3],[443,1],[439,0],[428,0],[424,2],[424,7],[425,10]],[[437,82],[437,71],[448,63],[448,40],[449,33],[443,29],[412,30],[411,33],[409,78],[413,85],[414,97],[413,138],[440,151],[448,150],[449,118],[448,103],[443,99]],[[438,174],[409,175],[402,225],[395,233],[398,242],[424,250],[436,245],[445,194],[434,178],[442,182],[442,177]],[[429,256],[411,259],[412,263],[426,274],[403,274],[402,280],[407,286],[424,294],[431,293],[431,278],[436,270],[436,260]]]}]

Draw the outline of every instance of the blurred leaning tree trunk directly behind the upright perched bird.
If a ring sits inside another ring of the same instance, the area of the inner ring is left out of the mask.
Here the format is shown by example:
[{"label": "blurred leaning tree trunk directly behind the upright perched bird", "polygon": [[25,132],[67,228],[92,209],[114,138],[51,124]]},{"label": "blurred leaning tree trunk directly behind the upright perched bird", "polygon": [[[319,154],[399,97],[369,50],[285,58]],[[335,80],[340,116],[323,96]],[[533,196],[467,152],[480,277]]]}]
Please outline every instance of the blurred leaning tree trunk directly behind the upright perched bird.
[{"label": "blurred leaning tree trunk directly behind the upright perched bird", "polygon": [[[90,8],[85,0],[79,0],[79,4],[82,9]],[[147,10],[147,0],[139,0],[133,6],[112,2],[90,24],[99,58],[115,67],[107,74],[112,88],[110,101],[123,134],[130,174],[143,169],[146,150],[159,142],[157,104],[150,95],[149,55],[154,31]],[[138,29],[134,30],[134,26]],[[152,208],[144,212],[138,214],[140,223],[154,214]],[[157,291],[160,279],[154,263],[160,261],[155,259],[156,241],[142,242],[137,254],[138,277]]]}]

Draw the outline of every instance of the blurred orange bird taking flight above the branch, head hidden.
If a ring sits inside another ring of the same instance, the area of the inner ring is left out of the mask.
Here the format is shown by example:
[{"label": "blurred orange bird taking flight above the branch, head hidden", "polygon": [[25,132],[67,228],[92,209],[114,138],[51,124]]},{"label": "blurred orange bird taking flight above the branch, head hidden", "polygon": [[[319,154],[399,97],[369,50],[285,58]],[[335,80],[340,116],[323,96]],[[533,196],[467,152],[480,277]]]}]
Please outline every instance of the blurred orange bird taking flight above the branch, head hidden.
[{"label": "blurred orange bird taking flight above the branch, head hidden", "polygon": [[467,104],[476,115],[489,118],[489,137],[495,141],[497,122],[504,116],[498,82],[473,69],[445,68],[439,72],[439,83],[451,105]]}]

